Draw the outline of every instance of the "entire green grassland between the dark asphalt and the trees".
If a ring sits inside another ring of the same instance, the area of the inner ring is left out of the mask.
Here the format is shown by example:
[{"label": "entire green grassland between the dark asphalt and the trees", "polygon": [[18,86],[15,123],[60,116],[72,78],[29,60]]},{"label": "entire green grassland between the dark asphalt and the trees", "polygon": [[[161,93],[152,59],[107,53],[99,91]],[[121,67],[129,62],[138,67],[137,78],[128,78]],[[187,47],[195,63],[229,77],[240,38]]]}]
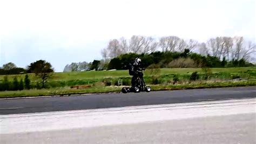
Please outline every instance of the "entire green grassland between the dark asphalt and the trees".
[{"label": "entire green grassland between the dark asphalt and the trees", "polygon": [[[204,80],[205,72],[201,68],[172,68],[160,69],[159,73],[152,73],[151,70],[145,71],[145,82],[152,86],[152,90],[176,90],[176,89],[197,89],[197,88],[220,88],[220,87],[239,87],[256,85],[256,67],[250,68],[211,68],[209,69],[211,78]],[[190,81],[191,73],[197,71],[199,79]],[[173,76],[177,75],[179,82],[172,84]],[[250,76],[249,76],[250,75]],[[0,82],[3,80],[0,76]],[[25,75],[9,75],[11,82],[14,77],[24,78]],[[156,82],[157,77],[157,82]],[[234,78],[242,78],[241,81],[233,81]],[[39,79],[35,74],[29,74],[32,84]],[[123,85],[130,85],[131,76],[127,70],[116,71],[82,71],[71,73],[53,73],[49,79],[49,89],[32,89],[22,91],[0,91],[0,98],[6,97],[28,97],[28,96],[47,96],[47,95],[74,95],[81,93],[102,93],[120,92],[122,86],[117,87],[118,80],[124,80]],[[95,82],[104,82],[109,85],[93,85]],[[70,89],[71,85],[91,84],[87,89]]]}]

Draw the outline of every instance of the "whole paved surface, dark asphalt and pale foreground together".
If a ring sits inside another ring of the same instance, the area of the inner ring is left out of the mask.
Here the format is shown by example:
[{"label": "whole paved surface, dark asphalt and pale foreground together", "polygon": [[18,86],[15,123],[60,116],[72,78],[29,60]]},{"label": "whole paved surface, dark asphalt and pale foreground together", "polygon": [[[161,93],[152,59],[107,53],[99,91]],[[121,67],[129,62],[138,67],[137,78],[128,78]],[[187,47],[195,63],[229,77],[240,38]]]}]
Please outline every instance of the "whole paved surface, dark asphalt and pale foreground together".
[{"label": "whole paved surface, dark asphalt and pale foreground together", "polygon": [[256,143],[256,87],[0,100],[0,143]]}]

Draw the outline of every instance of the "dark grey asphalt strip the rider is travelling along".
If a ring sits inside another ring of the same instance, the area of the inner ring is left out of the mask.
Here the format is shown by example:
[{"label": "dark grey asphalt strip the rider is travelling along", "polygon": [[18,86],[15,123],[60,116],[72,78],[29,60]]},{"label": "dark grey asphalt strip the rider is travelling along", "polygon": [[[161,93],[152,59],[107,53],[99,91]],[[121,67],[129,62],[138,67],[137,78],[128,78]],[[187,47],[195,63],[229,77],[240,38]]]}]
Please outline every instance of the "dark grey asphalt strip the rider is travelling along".
[{"label": "dark grey asphalt strip the rider is travelling along", "polygon": [[67,97],[0,99],[0,114],[102,109],[139,105],[255,98],[256,87],[153,91]]}]

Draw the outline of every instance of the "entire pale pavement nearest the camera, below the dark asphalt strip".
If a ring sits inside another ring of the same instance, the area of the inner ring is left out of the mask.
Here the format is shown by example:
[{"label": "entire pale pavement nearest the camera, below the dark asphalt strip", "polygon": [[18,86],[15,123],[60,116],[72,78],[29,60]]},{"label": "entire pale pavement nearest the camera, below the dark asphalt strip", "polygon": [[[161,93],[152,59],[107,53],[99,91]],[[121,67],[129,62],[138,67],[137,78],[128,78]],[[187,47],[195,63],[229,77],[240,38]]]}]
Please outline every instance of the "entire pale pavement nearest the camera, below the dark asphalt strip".
[{"label": "entire pale pavement nearest the camera, below the dark asphalt strip", "polygon": [[0,143],[256,143],[256,98],[0,116]]}]

